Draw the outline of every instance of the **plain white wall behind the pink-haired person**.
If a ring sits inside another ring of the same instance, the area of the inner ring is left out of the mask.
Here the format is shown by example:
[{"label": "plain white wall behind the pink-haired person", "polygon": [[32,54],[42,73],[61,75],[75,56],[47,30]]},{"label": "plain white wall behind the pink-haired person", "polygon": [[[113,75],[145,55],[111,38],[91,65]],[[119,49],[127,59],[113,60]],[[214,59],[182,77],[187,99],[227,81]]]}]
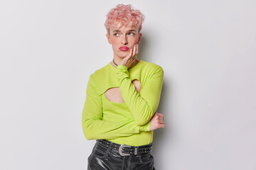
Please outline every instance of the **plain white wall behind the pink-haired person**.
[{"label": "plain white wall behind the pink-haired person", "polygon": [[140,59],[164,69],[156,169],[255,170],[255,0],[1,1],[0,169],[87,169],[87,81],[121,3],[146,16]]}]

